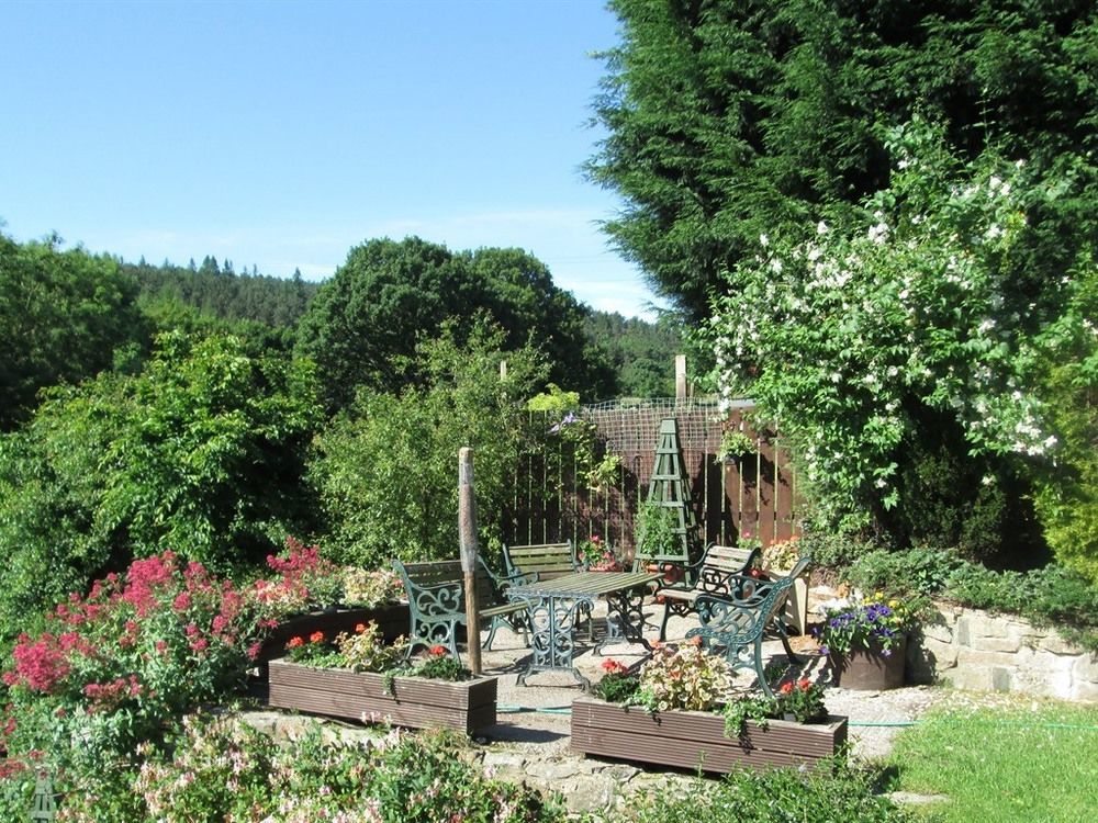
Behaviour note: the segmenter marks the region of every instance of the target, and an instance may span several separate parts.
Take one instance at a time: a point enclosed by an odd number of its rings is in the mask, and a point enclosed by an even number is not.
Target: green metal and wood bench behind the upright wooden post
[[[512,585],[529,583],[522,575],[498,576],[480,557],[477,559],[477,604],[482,620],[491,620],[491,631],[484,641],[484,649],[491,649],[500,625],[508,625],[527,635],[526,609],[524,600],[508,601],[506,590]],[[464,627],[469,642],[477,638],[480,627],[470,631],[466,619],[464,574],[461,561],[444,560],[425,563],[402,563],[393,561],[393,568],[404,584],[408,598],[408,649],[411,654],[417,646],[441,645],[458,657],[458,627]]]

